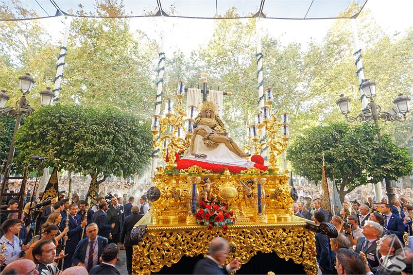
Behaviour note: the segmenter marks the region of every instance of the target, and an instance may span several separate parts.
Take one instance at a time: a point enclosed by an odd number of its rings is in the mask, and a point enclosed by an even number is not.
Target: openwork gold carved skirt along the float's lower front
[[[269,224],[268,224],[269,225]],[[150,274],[170,267],[182,256],[206,255],[212,238],[222,236],[236,244],[233,258],[241,264],[247,263],[257,252],[275,252],[285,260],[292,259],[302,264],[307,274],[317,274],[314,254],[314,233],[294,223],[228,226],[227,231],[219,228],[207,230],[202,226],[147,227],[139,245],[134,246],[133,272]],[[228,258],[229,262],[232,258]]]

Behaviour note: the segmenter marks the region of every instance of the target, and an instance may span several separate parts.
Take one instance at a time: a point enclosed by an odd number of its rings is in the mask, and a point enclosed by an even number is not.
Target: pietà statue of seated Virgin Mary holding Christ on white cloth
[[[249,155],[228,137],[224,123],[216,114],[214,103],[205,102],[195,119],[190,147],[184,158],[249,168],[254,163],[246,160],[247,156]]]

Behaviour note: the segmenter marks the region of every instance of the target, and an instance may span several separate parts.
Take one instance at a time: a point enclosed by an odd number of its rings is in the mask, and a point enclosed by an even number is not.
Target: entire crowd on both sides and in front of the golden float
[[[63,180],[59,188],[68,190],[67,185]],[[150,209],[144,195],[149,185],[128,188],[125,181],[108,181],[93,206],[85,200],[85,186],[81,180],[73,181],[71,200],[67,191],[61,191],[51,205],[40,209],[35,221],[30,194],[21,219],[17,213],[2,213],[1,274],[120,274],[115,267],[120,250],[125,250],[126,268],[132,274],[130,235]],[[8,188],[18,192],[18,182]],[[331,223],[338,232],[330,239],[315,235],[314,252],[322,274],[412,274],[411,189],[396,189],[396,199],[389,204],[386,199],[376,202],[368,186],[359,187],[346,195],[338,213],[322,208],[320,187],[303,185],[297,191],[294,215]],[[7,209],[19,207],[16,199],[6,199]],[[34,235],[38,238],[31,241]],[[229,255],[227,247],[224,239],[214,238],[208,257],[195,265],[194,274],[224,274],[239,268],[237,260],[219,268]]]

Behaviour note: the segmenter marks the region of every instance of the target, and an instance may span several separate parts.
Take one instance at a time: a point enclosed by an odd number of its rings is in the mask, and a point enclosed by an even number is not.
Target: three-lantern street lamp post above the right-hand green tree
[[[389,112],[381,111],[381,107],[376,104],[373,98],[376,96],[376,83],[369,81],[368,79],[363,82],[361,86],[366,98],[370,100],[370,103],[366,108],[361,110],[361,113],[356,117],[350,117],[350,99],[343,94],[340,95],[337,105],[340,107],[341,113],[345,116],[345,120],[348,122],[354,121],[371,121],[373,120],[377,126],[379,126],[379,120],[387,123],[388,121],[404,121],[406,120],[406,113],[409,112],[410,98],[399,94],[399,96],[393,101],[396,104],[397,111],[392,108]],[[380,133],[377,135],[381,139]],[[389,199],[389,203],[395,198],[395,193],[390,182],[386,180],[386,192]]]

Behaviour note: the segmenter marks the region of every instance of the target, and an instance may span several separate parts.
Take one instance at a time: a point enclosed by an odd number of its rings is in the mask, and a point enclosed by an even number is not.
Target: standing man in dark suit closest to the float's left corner
[[[132,274],[132,253],[133,245],[130,241],[131,231],[136,223],[143,217],[142,214],[139,214],[139,207],[132,206],[132,214],[125,218],[123,222],[122,231],[120,233],[120,245],[125,246],[126,252],[126,267],[128,269],[128,274]]]

